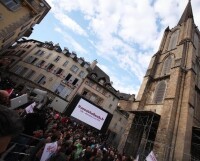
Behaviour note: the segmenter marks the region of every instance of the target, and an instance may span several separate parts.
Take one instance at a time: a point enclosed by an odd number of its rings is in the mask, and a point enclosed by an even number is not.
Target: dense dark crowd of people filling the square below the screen
[[[1,95],[4,96],[2,93]],[[6,101],[8,101],[7,95],[5,97]],[[1,101],[3,103],[6,102],[5,99],[1,99]],[[4,105],[7,104],[5,103]],[[47,105],[42,109],[34,108],[32,113],[27,113],[23,108],[10,110],[9,107],[3,107],[1,104],[0,156],[5,152],[11,137],[19,133],[39,140],[27,152],[26,161],[133,160],[131,157],[120,154],[115,148],[109,145],[108,134],[100,133],[78,120],[66,117]],[[7,138],[6,143],[5,138]],[[24,145],[29,144],[27,141],[21,143]],[[56,143],[56,150],[52,150],[51,154],[43,160],[45,147],[49,143]]]

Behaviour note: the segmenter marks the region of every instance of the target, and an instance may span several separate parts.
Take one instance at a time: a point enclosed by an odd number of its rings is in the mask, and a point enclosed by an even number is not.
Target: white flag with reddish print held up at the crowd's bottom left
[[[54,143],[46,144],[40,161],[47,161],[51,157],[51,155],[57,151],[57,148],[58,148],[57,141]]]

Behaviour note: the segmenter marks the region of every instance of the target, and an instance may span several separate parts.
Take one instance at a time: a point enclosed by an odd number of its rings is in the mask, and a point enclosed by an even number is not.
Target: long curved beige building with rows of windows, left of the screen
[[[22,40],[1,54],[9,59],[9,72],[16,86],[41,88],[49,95],[71,101],[87,76],[90,63],[59,44]]]

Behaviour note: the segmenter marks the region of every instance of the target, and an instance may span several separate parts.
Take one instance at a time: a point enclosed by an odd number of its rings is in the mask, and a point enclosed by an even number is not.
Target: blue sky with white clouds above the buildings
[[[52,7],[30,39],[59,43],[136,94],[165,28],[177,25],[188,0],[46,0]],[[196,25],[200,0],[192,0]]]

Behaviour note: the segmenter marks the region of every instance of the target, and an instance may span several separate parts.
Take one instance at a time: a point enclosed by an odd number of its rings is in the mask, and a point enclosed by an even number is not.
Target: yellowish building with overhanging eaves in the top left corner
[[[0,0],[0,51],[29,37],[50,9],[45,0]]]

